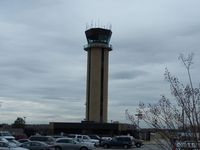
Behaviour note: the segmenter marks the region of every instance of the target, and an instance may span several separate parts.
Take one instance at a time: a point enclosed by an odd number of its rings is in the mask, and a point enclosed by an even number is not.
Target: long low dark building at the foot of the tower
[[[127,135],[132,134],[135,127],[130,124],[122,123],[95,123],[95,122],[50,122],[50,134],[97,134],[101,136],[109,135]]]

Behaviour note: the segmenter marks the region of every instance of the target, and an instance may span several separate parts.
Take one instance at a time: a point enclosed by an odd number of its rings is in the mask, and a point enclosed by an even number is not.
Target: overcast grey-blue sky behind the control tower
[[[86,24],[112,25],[108,121],[169,95],[170,72],[199,81],[199,0],[0,0],[0,123],[80,122],[85,117]]]

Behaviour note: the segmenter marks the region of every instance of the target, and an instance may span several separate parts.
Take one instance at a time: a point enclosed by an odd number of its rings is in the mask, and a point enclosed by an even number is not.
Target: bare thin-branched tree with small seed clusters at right
[[[188,84],[184,85],[176,76],[171,75],[168,69],[165,69],[164,77],[170,85],[170,90],[174,100],[169,100],[162,95],[157,103],[140,103],[139,110],[143,114],[143,120],[149,127],[154,129],[159,138],[155,138],[157,145],[163,150],[179,147],[187,148],[186,141],[192,141],[193,145],[200,149],[199,140],[199,101],[200,87],[194,88],[190,73],[193,64],[193,53],[184,57],[179,56],[184,64],[188,76]],[[126,110],[126,117],[137,126],[136,118]],[[179,142],[177,142],[179,141]]]

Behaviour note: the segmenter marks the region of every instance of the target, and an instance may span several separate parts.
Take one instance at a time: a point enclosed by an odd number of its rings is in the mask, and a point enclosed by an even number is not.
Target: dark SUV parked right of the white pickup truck
[[[127,149],[132,147],[132,139],[129,136],[116,136],[113,137],[112,140],[102,141],[101,146],[104,148],[123,147]]]

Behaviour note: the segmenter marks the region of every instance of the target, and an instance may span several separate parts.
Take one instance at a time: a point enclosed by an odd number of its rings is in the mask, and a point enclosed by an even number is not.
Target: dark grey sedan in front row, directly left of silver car
[[[24,142],[20,145],[20,147],[27,148],[29,150],[54,150],[54,146],[40,141]]]

